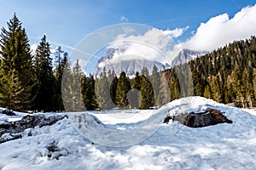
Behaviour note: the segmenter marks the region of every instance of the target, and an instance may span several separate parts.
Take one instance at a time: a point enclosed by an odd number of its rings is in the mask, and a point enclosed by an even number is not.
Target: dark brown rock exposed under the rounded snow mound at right
[[[216,125],[218,123],[232,123],[226,116],[220,111],[210,109],[201,113],[185,113],[177,116],[166,116],[165,121],[168,123],[170,120],[178,121],[188,127],[207,127],[210,125]]]

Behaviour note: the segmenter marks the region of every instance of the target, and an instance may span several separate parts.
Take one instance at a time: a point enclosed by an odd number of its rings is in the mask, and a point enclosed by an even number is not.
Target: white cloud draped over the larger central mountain
[[[118,48],[113,58],[120,56],[139,56],[149,60],[170,63],[180,49],[175,46],[172,37],[180,37],[189,27],[175,30],[158,30],[153,28],[144,34],[119,35],[108,48]]]

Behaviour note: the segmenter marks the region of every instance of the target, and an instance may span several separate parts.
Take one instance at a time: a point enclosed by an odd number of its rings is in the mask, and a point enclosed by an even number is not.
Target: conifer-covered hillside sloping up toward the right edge
[[[256,37],[251,37],[246,41],[232,42],[224,48],[218,48],[212,53],[189,61],[194,95],[204,96],[224,104],[236,102],[240,107],[253,107],[256,105],[255,56]],[[166,72],[168,75],[175,75],[176,69],[172,68]],[[179,83],[174,77],[169,80],[170,84]],[[172,99],[177,98],[179,95]]]

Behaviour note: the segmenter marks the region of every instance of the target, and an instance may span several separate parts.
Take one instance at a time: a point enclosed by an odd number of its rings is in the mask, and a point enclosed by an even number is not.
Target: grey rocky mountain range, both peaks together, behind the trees
[[[206,54],[207,52],[196,52],[189,49],[183,49],[175,59],[172,60],[171,64],[165,64],[158,61],[152,61],[138,56],[125,56],[114,58],[114,54],[124,53],[125,48],[108,48],[105,54],[98,60],[94,75],[100,75],[105,68],[106,71],[114,71],[116,75],[119,75],[122,71],[128,76],[133,76],[136,72],[141,72],[143,67],[146,67],[150,72],[153,70],[153,66],[156,65],[159,70],[171,68],[171,66],[181,65],[189,62],[191,59],[195,59],[198,56]]]

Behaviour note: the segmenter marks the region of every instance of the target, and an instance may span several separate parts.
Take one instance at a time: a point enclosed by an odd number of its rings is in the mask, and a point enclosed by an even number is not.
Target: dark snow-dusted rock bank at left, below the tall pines
[[[44,127],[52,125],[55,122],[63,119],[65,116],[24,116],[20,121],[8,122],[0,125],[0,144],[12,139],[19,139],[22,133],[27,128]],[[3,139],[1,138],[4,133],[10,133],[14,138]]]

